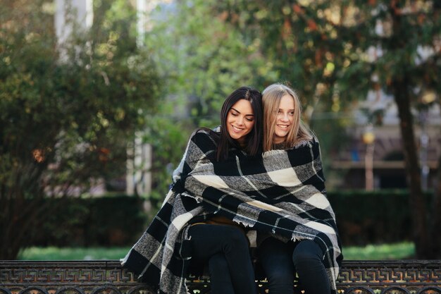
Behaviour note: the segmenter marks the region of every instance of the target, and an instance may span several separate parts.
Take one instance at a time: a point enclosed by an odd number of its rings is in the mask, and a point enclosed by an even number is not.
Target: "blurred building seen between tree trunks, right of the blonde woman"
[[[424,99],[428,100],[427,105],[414,110],[414,124],[421,185],[427,190],[434,188],[441,156],[441,112],[439,104],[430,105],[435,97]],[[366,101],[354,109],[354,119],[354,126],[347,130],[349,144],[332,156],[331,169],[342,176],[337,185],[366,190],[407,188],[402,136],[393,97],[383,90],[372,90]]]

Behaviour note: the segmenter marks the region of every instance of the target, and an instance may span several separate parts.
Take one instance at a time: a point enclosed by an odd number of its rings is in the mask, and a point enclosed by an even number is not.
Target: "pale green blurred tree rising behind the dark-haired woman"
[[[271,62],[255,40],[213,15],[211,1],[182,0],[157,6],[149,13],[152,27],[145,46],[153,54],[164,81],[160,111],[149,117],[145,142],[153,146],[153,191],[161,203],[171,181],[170,171],[182,158],[194,128],[220,124],[225,98],[241,85],[261,89],[275,80]]]

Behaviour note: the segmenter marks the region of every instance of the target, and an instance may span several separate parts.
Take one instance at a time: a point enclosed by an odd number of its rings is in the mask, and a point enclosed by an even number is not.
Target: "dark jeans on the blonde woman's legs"
[[[323,251],[312,240],[293,244],[268,238],[259,246],[258,255],[268,278],[269,294],[293,294],[296,271],[306,294],[330,294]]]

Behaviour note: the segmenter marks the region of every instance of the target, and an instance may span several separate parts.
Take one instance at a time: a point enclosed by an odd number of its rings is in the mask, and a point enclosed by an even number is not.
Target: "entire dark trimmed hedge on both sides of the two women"
[[[343,246],[411,240],[409,192],[332,191],[328,199]],[[154,214],[144,210],[143,199],[127,195],[51,202],[58,208],[39,229],[36,246],[131,246]]]

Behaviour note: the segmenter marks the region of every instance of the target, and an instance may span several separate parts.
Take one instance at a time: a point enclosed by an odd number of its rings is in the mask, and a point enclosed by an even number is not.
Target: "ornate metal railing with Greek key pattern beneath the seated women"
[[[192,294],[209,280],[192,277]],[[344,261],[337,281],[344,294],[441,294],[441,260]],[[266,281],[259,283],[264,294]],[[0,294],[154,294],[116,260],[0,261]]]

